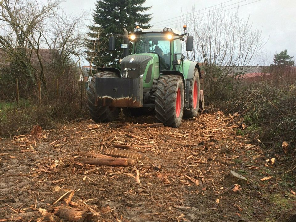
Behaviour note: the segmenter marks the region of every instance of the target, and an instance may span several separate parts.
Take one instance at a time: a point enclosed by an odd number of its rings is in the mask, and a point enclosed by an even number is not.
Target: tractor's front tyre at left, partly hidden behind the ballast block
[[[91,82],[89,82],[88,87],[89,90],[87,91],[88,95],[88,110],[89,115],[95,122],[110,122],[115,121],[119,113],[121,111],[120,107],[109,107],[109,106],[96,106],[96,77],[104,77],[104,78],[110,78],[110,77],[118,77],[115,72],[98,72],[94,74],[94,77],[92,78]]]

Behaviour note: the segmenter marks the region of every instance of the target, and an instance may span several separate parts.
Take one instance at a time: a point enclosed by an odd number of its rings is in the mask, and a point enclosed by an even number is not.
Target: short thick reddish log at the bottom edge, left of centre
[[[76,211],[65,207],[59,207],[55,210],[55,215],[68,221],[83,222],[86,219],[86,212]]]

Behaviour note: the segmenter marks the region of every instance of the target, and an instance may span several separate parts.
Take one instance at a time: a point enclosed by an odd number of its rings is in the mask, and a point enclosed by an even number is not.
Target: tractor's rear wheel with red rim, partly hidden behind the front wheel
[[[189,109],[184,109],[183,118],[193,118],[197,117],[199,113],[199,93],[200,93],[200,84],[199,84],[199,74],[197,68],[194,70],[193,78],[190,80],[189,86]],[[185,107],[184,107],[185,108]]]

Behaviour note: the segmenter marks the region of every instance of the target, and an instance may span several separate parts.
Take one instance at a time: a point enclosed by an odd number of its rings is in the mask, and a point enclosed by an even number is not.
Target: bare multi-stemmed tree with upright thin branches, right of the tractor
[[[224,7],[205,13],[193,8],[183,23],[195,39],[194,51],[188,56],[202,63],[206,71],[206,100],[212,101],[229,87],[234,94],[242,75],[261,58],[264,46],[261,29],[253,28],[249,20],[240,19],[238,10],[229,13]]]

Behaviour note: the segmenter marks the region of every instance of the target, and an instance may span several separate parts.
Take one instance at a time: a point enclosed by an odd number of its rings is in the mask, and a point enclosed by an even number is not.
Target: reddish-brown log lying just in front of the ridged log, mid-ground
[[[82,158],[81,162],[85,164],[92,164],[92,165],[106,165],[106,166],[114,166],[114,167],[120,167],[120,166],[130,166],[133,165],[135,162],[132,160],[129,160],[127,158],[114,158],[111,156],[106,156],[102,154],[91,154],[92,156],[95,156],[96,158]]]

